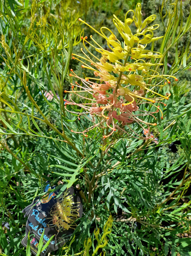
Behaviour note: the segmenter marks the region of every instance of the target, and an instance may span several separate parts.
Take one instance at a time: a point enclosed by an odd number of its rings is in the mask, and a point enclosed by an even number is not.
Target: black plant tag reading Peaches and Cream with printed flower
[[[70,239],[76,228],[75,221],[82,216],[83,205],[78,190],[73,187],[68,188],[57,197],[59,190],[49,192],[53,189],[48,184],[44,189],[47,192],[43,198],[35,198],[31,205],[27,206],[23,213],[28,217],[26,224],[26,235],[22,240],[23,246],[27,247],[28,233],[30,239],[30,250],[36,255],[40,237],[43,235],[43,246],[54,235],[47,248],[40,256],[46,255],[62,247]]]

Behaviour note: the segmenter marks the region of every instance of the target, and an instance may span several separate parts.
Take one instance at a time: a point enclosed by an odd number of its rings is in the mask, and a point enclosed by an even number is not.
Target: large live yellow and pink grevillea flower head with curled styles
[[[131,18],[129,18],[130,15]],[[74,77],[76,81],[71,84],[71,91],[65,91],[65,93],[71,93],[65,108],[72,112],[67,108],[67,105],[76,105],[85,109],[85,113],[89,113],[92,117],[96,115],[101,120],[96,123],[92,118],[94,125],[83,131],[83,135],[88,136],[86,134],[88,131],[100,126],[108,128],[104,135],[106,138],[116,130],[126,132],[124,126],[127,126],[136,136],[145,139],[142,135],[137,134],[130,124],[138,123],[145,131],[149,129],[150,125],[157,125],[156,113],[159,112],[161,119],[163,119],[161,104],[166,106],[163,100],[168,100],[170,93],[167,92],[166,95],[162,95],[158,93],[158,88],[166,84],[165,80],[170,83],[169,77],[174,78],[175,81],[177,78],[160,75],[157,70],[162,65],[158,61],[162,58],[162,54],[148,50],[147,45],[149,43],[162,38],[162,36],[154,37],[153,31],[159,25],[150,25],[150,23],[155,18],[156,15],[151,15],[142,22],[139,3],[135,12],[129,10],[126,13],[124,22],[114,15],[113,22],[122,40],[119,40],[107,27],[101,27],[99,32],[79,19],[107,42],[107,49],[105,49],[94,40],[92,35],[90,42],[87,40],[87,36],[82,37],[85,49],[81,48],[83,56],[72,54],[72,59],[80,61],[82,68],[90,69],[94,73],[94,77],[81,78],[71,69],[70,76]],[[134,35],[130,29],[133,22],[137,27]],[[100,53],[101,57],[98,58],[94,55],[90,48]],[[157,79],[160,80],[155,85]],[[81,84],[77,80],[81,80]],[[72,100],[72,94],[81,98],[82,103],[76,103]],[[79,116],[82,114],[81,111],[73,113],[79,114]],[[147,116],[151,116],[153,122],[146,121]],[[80,133],[78,131],[73,132]]]

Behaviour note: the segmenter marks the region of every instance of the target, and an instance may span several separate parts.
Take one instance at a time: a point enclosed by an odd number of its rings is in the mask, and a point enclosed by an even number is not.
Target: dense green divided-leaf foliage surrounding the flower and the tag
[[[47,180],[51,185],[62,180],[64,185],[57,186],[61,193],[80,184],[85,195],[83,215],[70,241],[54,255],[189,256],[191,12],[187,2],[165,0],[154,5],[158,23],[161,19],[157,36],[164,35],[152,45],[163,54],[163,68],[156,67],[163,75],[178,77],[177,84],[157,88],[162,95],[171,91],[167,106],[160,107],[164,118],[158,114],[158,125],[151,130],[158,144],[122,132],[103,139],[100,126],[88,137],[71,132],[92,125],[91,116],[81,115],[78,120],[63,101],[70,99],[64,93],[71,88],[68,69],[83,76],[79,64],[70,61],[72,51],[82,47],[77,19],[86,19],[97,30],[102,23],[113,29],[111,15],[124,20],[129,8],[123,1],[79,2],[77,8],[71,1],[0,2],[0,255],[26,255],[21,244],[26,223],[22,210],[37,195],[44,195]],[[137,1],[130,4],[134,9]],[[93,33],[83,29],[85,35]],[[142,134],[136,123],[131,127]]]

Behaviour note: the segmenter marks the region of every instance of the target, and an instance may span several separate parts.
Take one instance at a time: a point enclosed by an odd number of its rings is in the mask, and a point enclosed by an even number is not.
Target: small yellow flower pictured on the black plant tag
[[[65,191],[53,205],[50,212],[51,220],[48,223],[49,227],[55,226],[56,230],[75,229],[74,221],[79,217],[79,213],[75,202],[72,200],[72,195]]]

